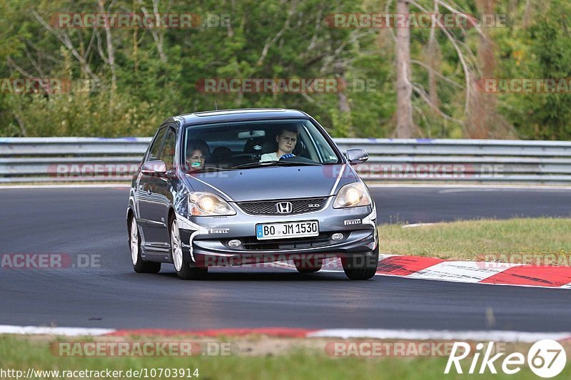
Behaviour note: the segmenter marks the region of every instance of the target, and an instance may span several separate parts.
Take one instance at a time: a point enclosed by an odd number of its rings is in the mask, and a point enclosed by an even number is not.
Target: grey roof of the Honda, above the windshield
[[[174,116],[173,118],[180,121],[183,125],[191,125],[224,121],[309,118],[309,115],[303,111],[286,108],[238,108],[186,113]]]

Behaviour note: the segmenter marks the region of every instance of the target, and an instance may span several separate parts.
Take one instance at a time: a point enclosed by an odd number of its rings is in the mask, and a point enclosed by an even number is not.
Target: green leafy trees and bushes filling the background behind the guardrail
[[[510,13],[505,28],[487,31],[496,48],[498,78],[570,77],[570,26],[566,1],[541,5],[496,2]],[[501,3],[501,4],[500,4]],[[95,81],[88,93],[14,94],[0,91],[0,135],[150,135],[176,113],[215,108],[285,107],[314,115],[330,133],[350,137],[390,137],[395,129],[395,46],[390,29],[332,28],[331,14],[395,11],[395,1],[369,0],[201,0],[158,1],[158,11],[196,14],[202,21],[228,15],[228,26],[194,29],[111,29],[115,65],[108,61],[104,29],[49,30],[54,14],[99,13],[92,0],[5,0],[0,4],[0,78],[64,78]],[[433,1],[418,0],[432,11]],[[455,1],[478,16],[473,0]],[[153,11],[151,0],[104,1],[111,14]],[[531,11],[535,14],[530,16]],[[411,12],[418,12],[411,5]],[[448,12],[440,7],[441,12]],[[216,15],[216,16],[212,16]],[[287,21],[287,22],[286,22]],[[480,36],[473,29],[450,29],[467,56],[476,56]],[[411,31],[413,83],[428,93],[430,29]],[[465,120],[465,74],[456,48],[436,31],[438,107]],[[62,41],[68,41],[64,43]],[[162,51],[162,54],[161,54]],[[83,64],[77,55],[84,56]],[[477,67],[473,68],[477,71]],[[113,72],[115,76],[113,78]],[[204,78],[335,78],[347,83],[338,93],[205,93]],[[113,83],[116,84],[113,87]],[[367,87],[359,88],[362,83]],[[456,83],[456,86],[454,85]],[[413,93],[418,135],[463,138],[462,123],[442,115]],[[341,103],[350,111],[340,111]],[[505,94],[497,112],[522,138],[570,138],[571,95]]]

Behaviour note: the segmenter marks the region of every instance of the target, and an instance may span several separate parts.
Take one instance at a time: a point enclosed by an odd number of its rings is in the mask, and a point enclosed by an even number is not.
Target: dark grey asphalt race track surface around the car
[[[571,190],[374,188],[380,222],[571,217]],[[0,190],[0,254],[63,253],[92,267],[0,268],[0,324],[208,329],[223,327],[495,329],[571,332],[571,293],[287,269],[211,269],[182,281],[131,269],[126,188]],[[490,318],[490,315],[492,316]]]

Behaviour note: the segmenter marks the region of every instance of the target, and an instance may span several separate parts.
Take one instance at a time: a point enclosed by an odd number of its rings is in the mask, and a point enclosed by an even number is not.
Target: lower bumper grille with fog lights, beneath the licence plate
[[[290,239],[275,239],[275,240],[258,240],[256,237],[243,237],[242,245],[238,248],[232,248],[233,250],[245,250],[245,251],[276,251],[276,250],[299,250],[303,248],[312,247],[323,247],[325,245],[331,245],[334,242],[330,239],[330,234],[320,233],[318,236],[314,237],[295,237]],[[347,235],[343,236],[345,240]],[[222,241],[222,243],[228,246],[228,242]]]

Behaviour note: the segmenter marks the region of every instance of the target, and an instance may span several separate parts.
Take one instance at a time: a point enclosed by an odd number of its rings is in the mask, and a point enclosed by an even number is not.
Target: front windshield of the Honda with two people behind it
[[[189,125],[183,152],[191,172],[340,163],[335,150],[310,120]]]

